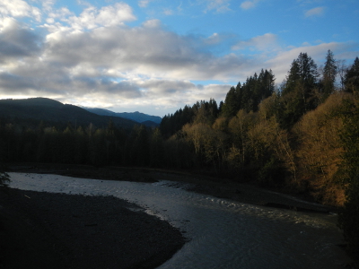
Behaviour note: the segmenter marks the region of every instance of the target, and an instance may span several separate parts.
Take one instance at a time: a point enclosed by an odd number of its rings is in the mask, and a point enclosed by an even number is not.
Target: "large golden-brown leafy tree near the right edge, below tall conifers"
[[[305,114],[293,127],[298,141],[296,159],[299,180],[325,204],[342,205],[345,202],[344,189],[336,179],[343,154],[339,137],[343,122],[337,109],[342,105],[343,98],[342,93],[330,95],[328,100]]]

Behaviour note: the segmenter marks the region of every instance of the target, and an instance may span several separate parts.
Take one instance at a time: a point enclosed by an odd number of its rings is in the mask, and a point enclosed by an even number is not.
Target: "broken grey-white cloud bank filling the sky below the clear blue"
[[[230,9],[228,0],[203,1],[205,12]],[[243,2],[241,8],[253,8],[258,2]],[[151,1],[137,4],[145,8]],[[322,12],[313,9],[306,16]],[[357,46],[332,42],[284,48],[270,32],[251,39],[218,33],[208,38],[180,35],[157,19],[128,26],[137,20],[133,8],[121,2],[102,7],[87,4],[76,14],[56,7],[51,0],[43,1],[41,8],[22,0],[2,1],[2,98],[44,96],[83,106],[164,116],[197,100],[223,100],[232,84],[245,81],[261,68],[272,68],[280,82],[302,51],[324,58],[329,48],[340,56]],[[231,44],[228,52],[215,54],[214,48],[223,46],[224,41]],[[253,53],[243,54],[245,50]]]

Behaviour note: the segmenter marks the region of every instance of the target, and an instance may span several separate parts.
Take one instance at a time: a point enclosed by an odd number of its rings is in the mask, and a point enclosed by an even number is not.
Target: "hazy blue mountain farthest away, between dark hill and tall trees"
[[[145,126],[158,126],[159,124],[161,124],[161,121],[162,121],[162,117],[151,116],[151,115],[147,115],[144,113],[140,113],[138,111],[116,113],[116,112],[110,111],[108,109],[103,109],[103,108],[85,108],[85,109],[87,111],[90,111],[97,115],[111,116],[111,117],[124,117],[127,119],[134,120],[134,121],[141,123]]]

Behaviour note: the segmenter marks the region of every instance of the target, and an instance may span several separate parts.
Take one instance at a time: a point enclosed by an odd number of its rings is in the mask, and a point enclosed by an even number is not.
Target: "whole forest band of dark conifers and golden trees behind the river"
[[[276,83],[261,70],[219,104],[198,100],[130,129],[0,118],[2,162],[186,169],[312,195],[341,208],[339,227],[359,256],[359,58],[318,67],[307,53]]]

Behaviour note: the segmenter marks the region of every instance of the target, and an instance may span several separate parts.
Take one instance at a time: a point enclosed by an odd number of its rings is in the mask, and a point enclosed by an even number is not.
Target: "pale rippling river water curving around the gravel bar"
[[[186,191],[172,181],[136,183],[9,173],[10,187],[66,194],[114,195],[169,221],[188,243],[159,268],[344,268],[333,214],[241,204]]]

